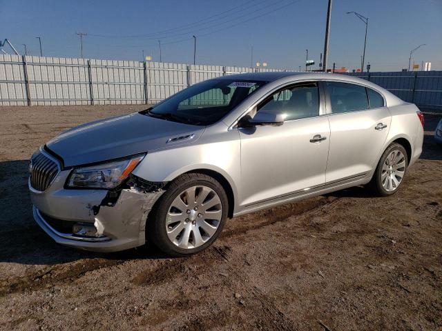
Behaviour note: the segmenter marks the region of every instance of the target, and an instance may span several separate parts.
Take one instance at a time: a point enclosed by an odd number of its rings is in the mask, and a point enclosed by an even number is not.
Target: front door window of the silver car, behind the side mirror
[[[319,92],[317,83],[290,86],[268,97],[257,111],[286,114],[286,121],[319,115]]]

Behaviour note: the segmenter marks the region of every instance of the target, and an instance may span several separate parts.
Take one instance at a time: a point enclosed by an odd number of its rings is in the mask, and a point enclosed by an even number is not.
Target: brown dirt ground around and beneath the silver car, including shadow
[[[1,330],[442,330],[442,114],[392,197],[352,188],[231,219],[186,259],[57,245],[32,220],[30,155],[140,108],[0,108]]]

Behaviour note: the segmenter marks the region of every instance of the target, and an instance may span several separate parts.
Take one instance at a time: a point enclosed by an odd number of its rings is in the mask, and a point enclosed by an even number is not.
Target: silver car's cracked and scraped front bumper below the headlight
[[[57,243],[95,252],[117,252],[145,243],[146,219],[163,190],[133,185],[108,199],[107,190],[64,188],[70,170],[39,192],[29,183],[35,221]]]

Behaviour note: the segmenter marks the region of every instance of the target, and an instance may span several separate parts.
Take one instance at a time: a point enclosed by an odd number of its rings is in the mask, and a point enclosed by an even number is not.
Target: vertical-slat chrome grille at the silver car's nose
[[[35,152],[30,158],[29,178],[32,188],[38,191],[46,190],[59,172],[55,161],[41,152]]]

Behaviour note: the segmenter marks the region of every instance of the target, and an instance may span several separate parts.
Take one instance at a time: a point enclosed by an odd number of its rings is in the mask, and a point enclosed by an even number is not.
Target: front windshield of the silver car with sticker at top
[[[207,126],[228,114],[266,81],[211,79],[195,84],[140,112],[169,121]]]

